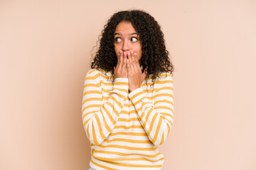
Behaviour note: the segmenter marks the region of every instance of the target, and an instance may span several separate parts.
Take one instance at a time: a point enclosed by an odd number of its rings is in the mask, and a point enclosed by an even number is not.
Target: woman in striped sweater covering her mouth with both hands
[[[119,11],[105,25],[87,72],[82,122],[90,169],[161,169],[174,120],[174,67],[159,24],[144,11]]]

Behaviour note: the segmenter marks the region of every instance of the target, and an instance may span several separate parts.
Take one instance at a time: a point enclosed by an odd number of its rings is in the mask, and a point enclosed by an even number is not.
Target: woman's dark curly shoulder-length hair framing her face
[[[174,65],[169,60],[169,52],[166,50],[164,33],[159,24],[149,13],[140,10],[119,11],[107,21],[102,30],[100,47],[92,61],[92,69],[103,69],[114,73],[117,65],[117,55],[114,52],[114,31],[122,22],[132,23],[142,43],[142,58],[140,60],[143,70],[147,68],[146,79],[151,75],[152,81],[159,77],[161,72],[169,72],[172,75]]]

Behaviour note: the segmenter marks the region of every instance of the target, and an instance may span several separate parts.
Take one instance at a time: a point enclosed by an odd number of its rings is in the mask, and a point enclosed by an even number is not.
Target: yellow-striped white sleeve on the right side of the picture
[[[153,101],[146,98],[142,88],[128,96],[135,106],[149,140],[158,146],[166,141],[174,121],[174,83],[171,74],[155,82]]]

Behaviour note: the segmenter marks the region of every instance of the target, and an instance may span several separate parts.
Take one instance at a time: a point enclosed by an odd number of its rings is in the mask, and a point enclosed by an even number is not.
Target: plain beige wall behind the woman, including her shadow
[[[112,13],[131,8],[156,18],[175,65],[164,170],[256,169],[255,0],[1,0],[0,169],[87,170],[90,53]]]

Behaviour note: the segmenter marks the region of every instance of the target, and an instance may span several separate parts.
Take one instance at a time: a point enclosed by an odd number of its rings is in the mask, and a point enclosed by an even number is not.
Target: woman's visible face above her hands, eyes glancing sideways
[[[138,60],[142,58],[142,44],[132,23],[121,22],[114,31],[114,51],[116,55],[123,52],[136,52]]]

